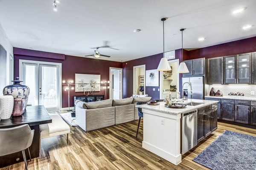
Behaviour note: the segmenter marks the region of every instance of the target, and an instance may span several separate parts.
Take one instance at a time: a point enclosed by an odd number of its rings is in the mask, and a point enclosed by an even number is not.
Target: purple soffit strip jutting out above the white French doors
[[[35,51],[35,50],[28,50],[23,48],[13,48],[13,54],[23,55],[23,56],[32,56],[32,57],[43,57],[49,59],[65,59],[65,54],[57,54],[57,53],[50,53],[44,51]]]

